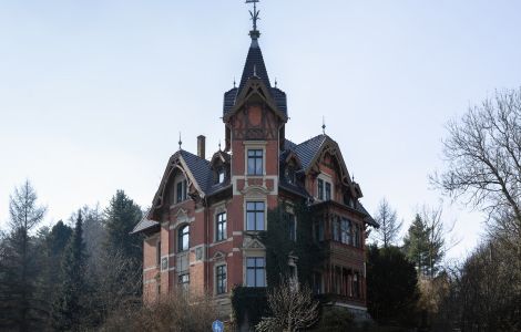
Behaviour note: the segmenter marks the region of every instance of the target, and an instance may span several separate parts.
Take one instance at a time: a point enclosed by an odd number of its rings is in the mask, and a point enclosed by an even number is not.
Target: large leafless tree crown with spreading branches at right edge
[[[453,198],[489,212],[521,238],[521,89],[497,92],[448,124],[448,169],[431,180]],[[509,218],[504,218],[508,215]]]

